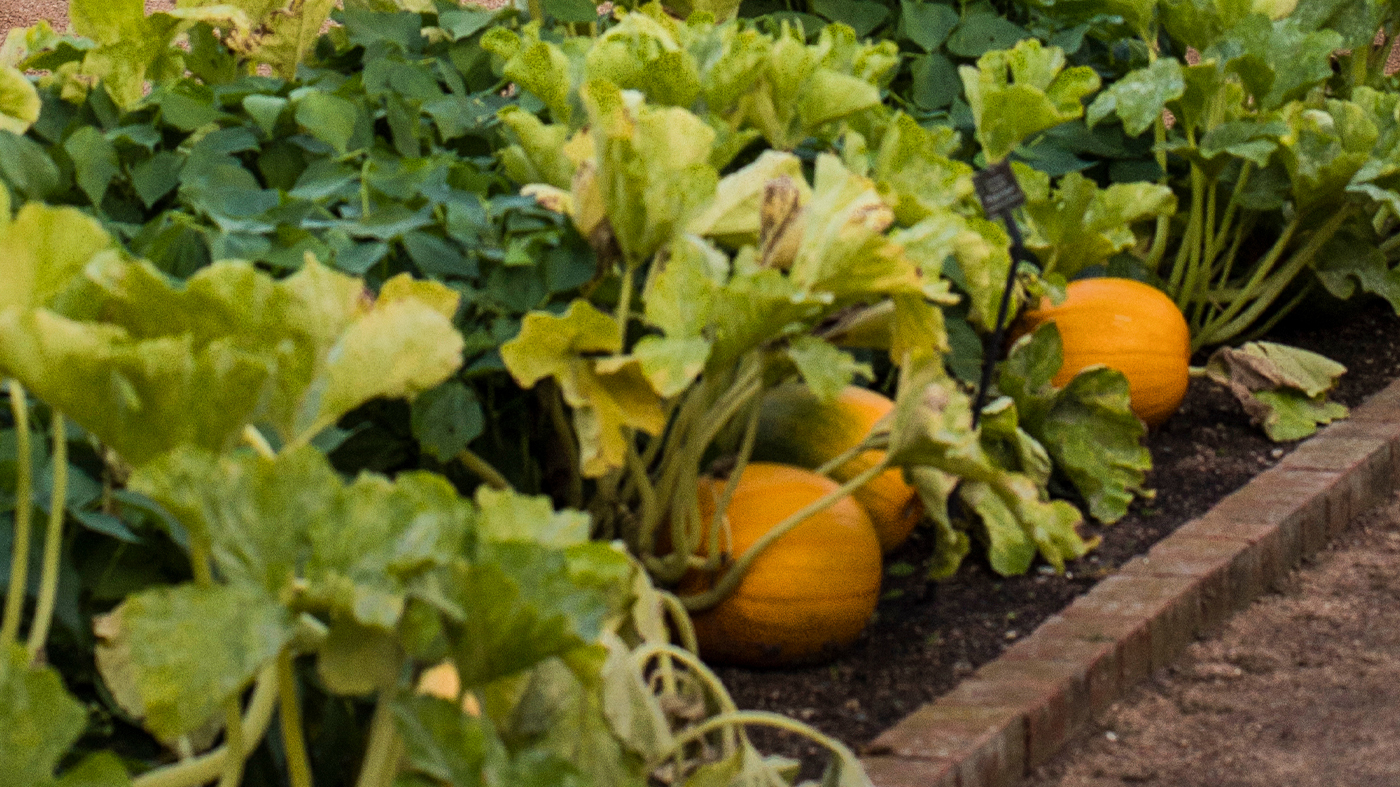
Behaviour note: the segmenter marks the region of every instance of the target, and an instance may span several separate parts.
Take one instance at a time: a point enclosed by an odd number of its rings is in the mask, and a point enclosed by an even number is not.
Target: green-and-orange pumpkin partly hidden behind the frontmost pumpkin
[[[819,401],[801,384],[780,385],[763,398],[753,458],[816,469],[858,445],[893,409],[889,398],[858,385],[833,402]],[[883,459],[883,451],[864,451],[830,475],[847,482]],[[865,482],[853,497],[875,524],[882,552],[904,543],[924,515],[917,490],[904,483],[899,468]]]

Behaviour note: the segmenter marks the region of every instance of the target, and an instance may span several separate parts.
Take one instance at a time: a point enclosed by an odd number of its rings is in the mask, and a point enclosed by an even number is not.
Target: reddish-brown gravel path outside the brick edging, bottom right
[[[1372,511],[1023,787],[1400,784],[1400,503]]]

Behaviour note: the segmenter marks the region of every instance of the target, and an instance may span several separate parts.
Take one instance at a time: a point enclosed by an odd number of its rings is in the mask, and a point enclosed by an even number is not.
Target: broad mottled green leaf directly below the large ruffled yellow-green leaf
[[[466,552],[475,521],[441,476],[346,485],[311,447],[276,459],[178,450],[130,483],[204,539],[228,581],[381,629],[398,623],[409,581]]]

